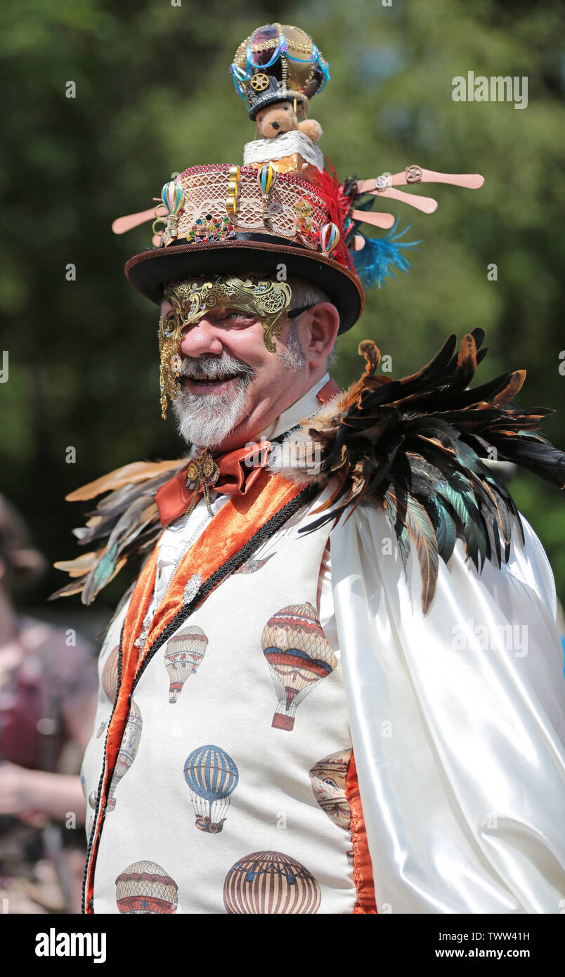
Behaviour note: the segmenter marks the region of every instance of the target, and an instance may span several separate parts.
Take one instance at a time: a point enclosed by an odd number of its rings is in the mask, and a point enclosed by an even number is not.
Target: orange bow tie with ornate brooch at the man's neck
[[[267,464],[270,450],[270,442],[260,441],[218,458],[205,449],[197,451],[195,458],[155,492],[161,526],[175,522],[189,508],[192,511],[202,494],[207,501],[208,488],[224,495],[244,495]]]

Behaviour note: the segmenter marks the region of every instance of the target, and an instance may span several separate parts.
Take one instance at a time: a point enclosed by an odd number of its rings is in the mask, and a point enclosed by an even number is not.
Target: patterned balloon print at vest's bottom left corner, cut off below
[[[155,862],[134,862],[115,880],[115,901],[120,913],[155,915],[176,913],[178,885]]]

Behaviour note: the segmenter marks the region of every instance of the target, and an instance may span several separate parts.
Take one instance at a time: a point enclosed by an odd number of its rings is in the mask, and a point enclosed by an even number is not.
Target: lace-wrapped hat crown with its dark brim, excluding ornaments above
[[[278,174],[270,163],[259,170],[212,164],[190,167],[173,186],[179,206],[162,218],[159,246],[125,267],[134,288],[153,302],[161,301],[167,280],[247,271],[277,277],[283,264],[285,276],[326,292],[339,310],[340,331],[359,318],[363,286],[337,223],[338,186],[326,174],[316,186]]]

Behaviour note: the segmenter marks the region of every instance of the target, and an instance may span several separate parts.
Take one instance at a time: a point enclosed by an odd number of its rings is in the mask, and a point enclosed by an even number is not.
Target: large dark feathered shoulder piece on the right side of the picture
[[[307,457],[304,442],[320,448],[316,481],[336,483],[323,515],[311,529],[361,502],[382,506],[395,532],[406,570],[411,544],[417,553],[424,613],[432,601],[441,557],[450,559],[462,539],[478,571],[485,560],[507,562],[512,531],[524,533],[517,509],[495,474],[492,460],[522,465],[563,488],[565,454],[539,433],[551,410],[510,402],[526,373],[504,373],[468,390],[482,329],[463,337],[456,352],[452,335],[434,359],[402,380],[375,374],[380,354],[366,340],[359,347],[367,367],[362,378],[337,395],[285,443],[282,457]],[[294,444],[292,444],[294,443]],[[302,448],[302,450],[300,450]],[[312,471],[312,469],[310,469]],[[310,477],[311,479],[311,477]]]

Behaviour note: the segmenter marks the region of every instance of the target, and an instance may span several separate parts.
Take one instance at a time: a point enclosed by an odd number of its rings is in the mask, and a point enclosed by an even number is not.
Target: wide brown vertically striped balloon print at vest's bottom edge
[[[224,882],[228,913],[318,913],[322,894],[311,871],[282,852],[253,852],[236,862]]]

